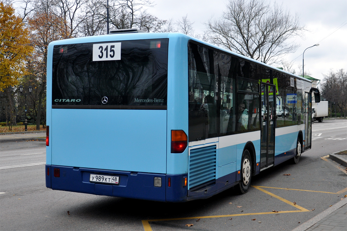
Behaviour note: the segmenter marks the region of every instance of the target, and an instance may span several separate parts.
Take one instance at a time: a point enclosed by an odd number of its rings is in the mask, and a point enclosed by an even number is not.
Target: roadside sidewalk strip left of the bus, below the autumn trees
[[[46,137],[46,131],[4,132],[4,133],[0,133],[0,143],[20,142],[20,141],[27,141],[27,140],[45,141],[46,140],[45,137]]]

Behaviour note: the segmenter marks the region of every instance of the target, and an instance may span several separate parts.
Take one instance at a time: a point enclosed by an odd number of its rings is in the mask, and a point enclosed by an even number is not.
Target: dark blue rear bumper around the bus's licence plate
[[[54,177],[54,168],[60,169],[60,177]],[[45,172],[46,187],[53,190],[163,202],[187,200],[187,186],[182,185],[182,180],[187,177],[187,174],[169,175],[56,165],[46,165]],[[91,183],[89,181],[91,173],[119,176],[119,185]],[[161,178],[161,187],[154,187],[154,177]],[[171,180],[171,187],[168,187],[168,178]]]

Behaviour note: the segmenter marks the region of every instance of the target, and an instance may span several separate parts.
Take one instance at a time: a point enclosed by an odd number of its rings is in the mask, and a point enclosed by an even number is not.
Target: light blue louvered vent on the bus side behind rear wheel
[[[191,190],[209,187],[215,183],[216,145],[191,150],[188,176]]]

